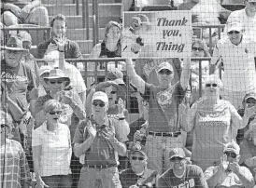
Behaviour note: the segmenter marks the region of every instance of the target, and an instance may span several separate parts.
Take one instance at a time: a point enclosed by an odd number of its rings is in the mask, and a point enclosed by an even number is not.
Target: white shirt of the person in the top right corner
[[[243,23],[245,27],[245,34],[256,40],[256,15],[254,17],[247,16],[245,8],[232,12],[229,15],[227,22]]]

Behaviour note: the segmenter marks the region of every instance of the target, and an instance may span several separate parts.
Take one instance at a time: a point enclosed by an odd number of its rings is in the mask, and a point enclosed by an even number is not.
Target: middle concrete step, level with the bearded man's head
[[[49,17],[52,19],[52,16]],[[92,16],[90,16],[90,27],[92,28]],[[120,17],[99,17],[99,28],[105,28],[110,20],[119,21]],[[82,16],[66,16],[67,28],[82,28]]]

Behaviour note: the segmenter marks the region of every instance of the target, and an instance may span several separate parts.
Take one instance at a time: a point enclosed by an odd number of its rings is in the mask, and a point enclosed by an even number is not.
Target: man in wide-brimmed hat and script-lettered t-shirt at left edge
[[[7,41],[7,46],[1,48],[5,49],[5,59],[1,60],[1,81],[9,98],[21,109],[20,119],[14,118],[14,124],[20,130],[17,139],[21,141],[21,145],[26,150],[26,126],[31,119],[29,112],[30,91],[36,86],[36,80],[32,70],[25,62],[21,61],[23,53],[27,51],[22,47],[21,37],[11,36]]]

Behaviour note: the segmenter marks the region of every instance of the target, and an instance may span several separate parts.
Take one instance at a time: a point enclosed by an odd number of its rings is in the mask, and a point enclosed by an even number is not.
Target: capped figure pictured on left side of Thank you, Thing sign
[[[151,22],[146,14],[137,14],[122,31],[121,56],[137,58],[141,47],[148,44]]]

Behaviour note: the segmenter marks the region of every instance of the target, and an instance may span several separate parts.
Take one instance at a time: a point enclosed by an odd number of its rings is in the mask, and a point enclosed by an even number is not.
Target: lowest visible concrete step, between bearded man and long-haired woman
[[[67,29],[66,31],[67,38],[70,40],[88,40],[92,39],[92,28],[90,28],[89,38],[86,38],[86,29]],[[99,39],[103,40],[105,35],[105,28],[99,28]]]

